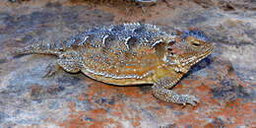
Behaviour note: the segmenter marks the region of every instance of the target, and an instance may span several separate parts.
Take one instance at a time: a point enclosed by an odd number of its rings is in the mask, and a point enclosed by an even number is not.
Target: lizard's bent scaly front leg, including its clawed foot
[[[195,96],[177,95],[176,93],[168,90],[171,87],[175,86],[179,80],[180,78],[177,79],[171,76],[160,78],[160,80],[158,80],[152,87],[153,95],[160,100],[181,103],[183,105],[185,105],[186,103],[195,105],[196,102],[199,102],[199,99]]]

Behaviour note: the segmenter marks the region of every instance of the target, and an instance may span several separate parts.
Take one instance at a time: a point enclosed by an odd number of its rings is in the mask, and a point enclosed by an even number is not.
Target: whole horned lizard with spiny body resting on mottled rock
[[[153,95],[160,100],[195,105],[196,96],[177,95],[169,89],[212,53],[213,45],[200,36],[196,31],[161,32],[150,24],[117,24],[90,29],[64,42],[34,43],[16,55],[55,55],[56,64],[67,72],[81,71],[118,86],[153,84]]]

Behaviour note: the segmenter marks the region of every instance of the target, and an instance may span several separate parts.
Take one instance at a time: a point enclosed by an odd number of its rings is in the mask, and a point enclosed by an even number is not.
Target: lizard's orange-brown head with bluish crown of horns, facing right
[[[186,73],[191,66],[213,52],[213,45],[194,36],[176,37],[165,46],[163,61],[176,72]]]

